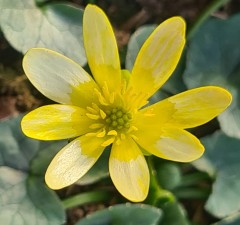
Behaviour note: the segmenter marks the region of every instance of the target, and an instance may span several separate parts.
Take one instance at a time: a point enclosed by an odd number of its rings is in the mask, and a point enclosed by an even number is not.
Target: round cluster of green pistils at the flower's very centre
[[[124,111],[121,108],[113,108],[111,110],[106,110],[106,124],[108,125],[108,129],[128,129],[130,128],[130,120],[132,116],[130,113]]]

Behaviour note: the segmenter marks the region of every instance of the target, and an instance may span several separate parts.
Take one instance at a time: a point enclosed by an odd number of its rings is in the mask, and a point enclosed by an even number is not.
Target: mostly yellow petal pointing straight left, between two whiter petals
[[[25,115],[21,126],[31,138],[60,140],[87,133],[91,123],[84,109],[69,105],[46,105]]]

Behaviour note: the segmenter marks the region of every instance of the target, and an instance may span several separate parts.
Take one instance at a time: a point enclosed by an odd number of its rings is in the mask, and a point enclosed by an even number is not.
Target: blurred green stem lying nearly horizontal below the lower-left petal
[[[110,195],[107,191],[91,191],[74,195],[62,201],[65,209],[74,208],[88,203],[109,200]]]

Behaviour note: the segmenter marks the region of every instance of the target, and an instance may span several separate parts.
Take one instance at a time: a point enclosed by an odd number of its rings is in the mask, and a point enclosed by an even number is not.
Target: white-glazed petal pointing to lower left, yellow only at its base
[[[61,189],[79,180],[102,154],[102,139],[82,136],[60,150],[50,163],[45,181],[52,189]]]

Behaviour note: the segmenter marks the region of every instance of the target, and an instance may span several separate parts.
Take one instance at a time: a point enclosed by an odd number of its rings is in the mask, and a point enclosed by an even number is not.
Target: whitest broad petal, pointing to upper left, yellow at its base
[[[57,52],[30,49],[23,59],[23,69],[32,84],[53,101],[85,107],[95,97],[93,89],[97,85],[91,76],[80,65]]]

